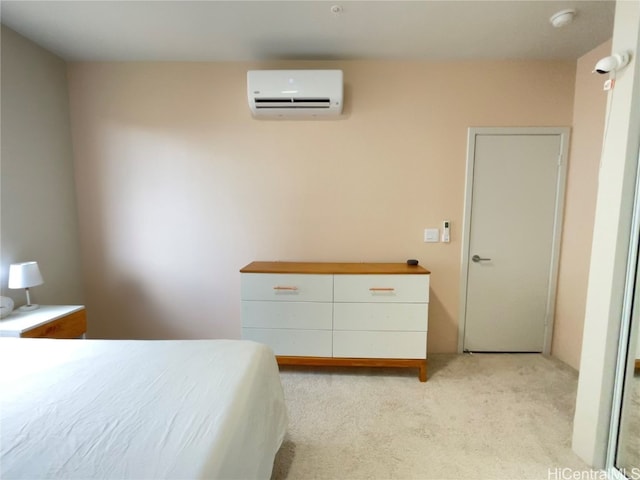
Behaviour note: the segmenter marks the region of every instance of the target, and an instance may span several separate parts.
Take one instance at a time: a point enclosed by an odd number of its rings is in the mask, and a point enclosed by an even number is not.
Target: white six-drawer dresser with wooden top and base
[[[280,365],[418,368],[427,379],[430,272],[404,263],[253,262],[242,337]]]

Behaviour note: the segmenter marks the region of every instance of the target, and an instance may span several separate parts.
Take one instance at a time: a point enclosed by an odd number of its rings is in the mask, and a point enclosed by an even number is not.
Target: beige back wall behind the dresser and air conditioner
[[[336,121],[257,121],[250,68],[342,68]],[[574,62],[72,64],[90,336],[240,335],[252,260],[432,271],[431,352],[458,340],[470,126],[569,126]],[[450,244],[423,229],[452,222]]]

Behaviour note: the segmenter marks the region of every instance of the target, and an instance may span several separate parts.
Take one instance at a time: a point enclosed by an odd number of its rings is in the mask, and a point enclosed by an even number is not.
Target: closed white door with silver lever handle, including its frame
[[[568,131],[469,133],[462,349],[548,353]]]

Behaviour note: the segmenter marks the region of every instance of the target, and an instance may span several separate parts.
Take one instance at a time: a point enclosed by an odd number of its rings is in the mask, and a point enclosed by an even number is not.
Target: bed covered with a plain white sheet
[[[0,339],[0,478],[268,479],[287,416],[266,346]]]

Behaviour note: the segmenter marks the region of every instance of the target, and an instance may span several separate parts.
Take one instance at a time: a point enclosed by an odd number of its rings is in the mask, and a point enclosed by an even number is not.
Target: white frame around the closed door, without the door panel
[[[568,127],[470,127],[467,133],[467,171],[464,192],[464,214],[462,223],[462,253],[460,261],[460,308],[458,316],[458,353],[464,351],[464,335],[467,317],[467,280],[469,273],[469,244],[471,240],[471,206],[473,204],[473,171],[475,167],[476,138],[479,135],[559,135],[560,152],[558,154],[558,179],[556,182],[556,204],[553,221],[553,245],[551,247],[551,271],[547,291],[547,311],[544,329],[542,353],[551,353],[553,324],[558,284],[560,260],[560,240],[564,216],[564,195],[567,179],[567,160],[569,155]]]

